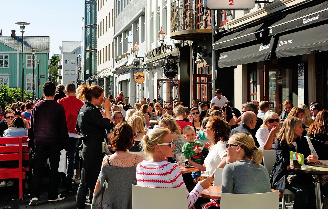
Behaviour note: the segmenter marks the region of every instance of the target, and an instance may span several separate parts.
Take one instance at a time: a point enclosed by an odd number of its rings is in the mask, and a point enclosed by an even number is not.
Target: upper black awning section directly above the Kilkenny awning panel
[[[214,44],[212,49],[223,49],[238,44],[245,44],[247,42],[264,39],[268,36],[268,26],[272,25],[272,21],[266,21],[256,26],[252,26],[237,32],[229,32],[226,36],[220,38]]]

